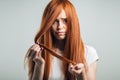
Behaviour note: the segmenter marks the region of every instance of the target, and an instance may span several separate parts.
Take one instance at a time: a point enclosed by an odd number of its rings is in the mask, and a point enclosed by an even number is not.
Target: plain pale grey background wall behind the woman
[[[27,80],[24,55],[50,0],[0,0],[0,80]],[[70,0],[85,44],[99,55],[97,80],[120,80],[120,1]]]

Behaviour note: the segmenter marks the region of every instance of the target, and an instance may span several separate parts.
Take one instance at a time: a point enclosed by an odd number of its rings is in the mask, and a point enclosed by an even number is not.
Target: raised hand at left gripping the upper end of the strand
[[[38,44],[33,44],[30,48],[28,57],[32,59],[35,63],[45,63],[45,60],[41,56],[42,51],[43,47],[40,47]]]

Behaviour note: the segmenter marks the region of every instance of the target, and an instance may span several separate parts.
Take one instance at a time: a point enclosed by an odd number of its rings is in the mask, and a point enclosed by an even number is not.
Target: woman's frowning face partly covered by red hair
[[[67,32],[67,18],[65,11],[62,10],[52,25],[53,36],[58,40],[63,40]]]

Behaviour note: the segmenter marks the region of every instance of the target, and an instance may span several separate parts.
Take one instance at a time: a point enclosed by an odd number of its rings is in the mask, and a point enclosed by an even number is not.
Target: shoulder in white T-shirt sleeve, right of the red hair
[[[85,58],[88,66],[99,59],[98,53],[93,46],[85,45]]]

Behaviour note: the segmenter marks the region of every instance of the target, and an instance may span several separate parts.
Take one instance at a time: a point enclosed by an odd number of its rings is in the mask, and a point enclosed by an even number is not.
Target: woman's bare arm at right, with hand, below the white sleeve
[[[75,67],[78,67],[79,69],[75,69]],[[69,72],[71,74],[75,73],[77,74],[77,80],[81,80],[81,76],[79,75],[82,73],[83,80],[96,80],[96,69],[97,69],[97,61],[92,63],[90,66],[88,66],[88,70],[85,71],[85,68],[82,63],[79,63],[77,65],[71,65],[69,66]]]

